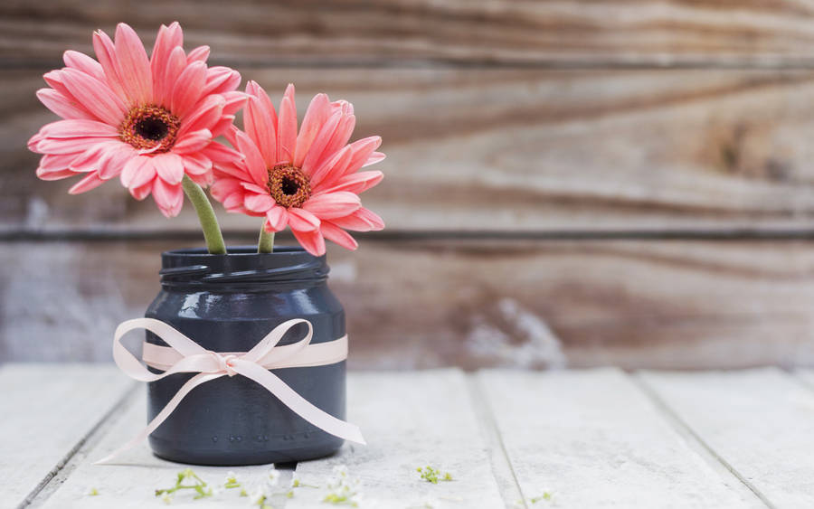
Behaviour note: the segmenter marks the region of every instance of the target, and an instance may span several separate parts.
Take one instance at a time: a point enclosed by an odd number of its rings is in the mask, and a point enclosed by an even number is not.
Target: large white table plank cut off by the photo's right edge
[[[640,377],[771,507],[814,504],[814,392],[775,369]]]

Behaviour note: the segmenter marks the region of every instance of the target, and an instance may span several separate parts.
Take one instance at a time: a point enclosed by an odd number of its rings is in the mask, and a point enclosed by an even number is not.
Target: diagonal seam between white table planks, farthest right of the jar
[[[748,479],[746,479],[745,476],[735,469],[732,464],[730,464],[724,457],[719,455],[715,449],[704,440],[704,438],[696,433],[695,429],[692,429],[684,419],[681,419],[677,412],[667,404],[667,401],[663,400],[658,395],[656,389],[650,386],[647,380],[640,376],[640,372],[635,372],[633,374],[629,373],[628,376],[633,382],[633,385],[639,388],[639,390],[642,391],[648,400],[651,401],[660,411],[662,417],[667,421],[670,427],[675,429],[679,436],[685,439],[687,445],[695,450],[700,457],[715,468],[716,471],[722,473],[728,472],[734,477],[734,480],[738,483],[738,485],[745,486],[750,492],[752,492],[752,495],[756,496],[762,502],[762,504],[766,505],[766,507],[770,509],[777,509],[776,506],[766,497],[766,495],[762,494],[757,486],[753,485]]]

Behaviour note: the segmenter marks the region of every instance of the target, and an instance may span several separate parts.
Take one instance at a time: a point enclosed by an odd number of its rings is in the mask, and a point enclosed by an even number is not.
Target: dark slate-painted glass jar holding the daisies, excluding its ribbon
[[[227,255],[172,250],[161,260],[161,291],[145,316],[172,325],[207,350],[248,352],[292,318],[311,322],[311,344],[345,335],[345,311],[327,287],[324,256],[301,248],[258,254],[254,247],[241,247]],[[295,343],[307,331],[308,325],[295,325],[279,345]],[[147,343],[166,346],[150,332]],[[345,419],[344,361],[272,372],[319,409]],[[148,383],[148,420],[192,376],[177,373]],[[300,418],[258,383],[236,375],[195,388],[149,443],[156,456],[172,461],[236,466],[324,457],[343,440]]]

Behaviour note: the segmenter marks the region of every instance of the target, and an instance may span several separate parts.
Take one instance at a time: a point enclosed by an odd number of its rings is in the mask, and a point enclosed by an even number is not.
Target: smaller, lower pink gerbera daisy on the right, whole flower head
[[[213,197],[229,212],[264,216],[267,231],[291,227],[311,254],[325,254],[325,239],[355,250],[345,230],[381,230],[384,223],[359,200],[383,177],[358,170],[381,161],[381,137],[347,144],[355,126],[349,102],[331,102],[317,94],[297,129],[294,86],[279,105],[279,116],[260,86],[250,81],[243,110],[245,132],[232,127],[226,137],[244,156],[242,161],[216,162]]]

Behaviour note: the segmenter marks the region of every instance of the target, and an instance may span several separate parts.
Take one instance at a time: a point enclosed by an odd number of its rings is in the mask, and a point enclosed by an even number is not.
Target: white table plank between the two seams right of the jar
[[[478,373],[527,506],[763,507],[617,370]],[[536,505],[535,505],[536,506]]]

